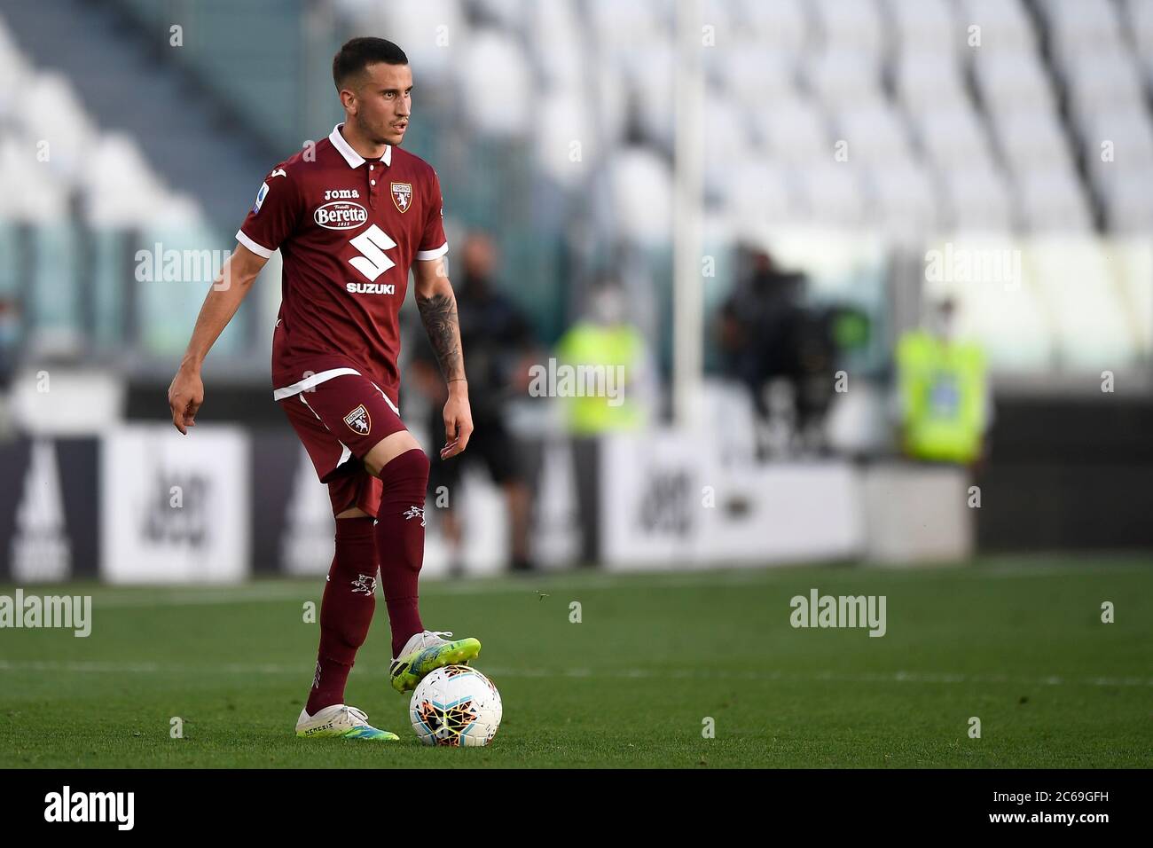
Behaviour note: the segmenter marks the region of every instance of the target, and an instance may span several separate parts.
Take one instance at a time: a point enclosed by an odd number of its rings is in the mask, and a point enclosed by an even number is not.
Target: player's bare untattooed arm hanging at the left
[[[264,256],[238,243],[232,256],[225,260],[220,275],[212,284],[212,291],[204,299],[188,350],[180,362],[180,370],[168,387],[172,423],[182,434],[187,435],[188,428],[196,425],[196,412],[204,403],[204,383],[201,381],[204,358],[236,314],[265,262],[267,260]]]

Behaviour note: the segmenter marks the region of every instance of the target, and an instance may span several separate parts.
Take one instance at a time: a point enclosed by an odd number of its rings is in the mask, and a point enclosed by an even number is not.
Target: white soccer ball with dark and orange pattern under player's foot
[[[500,727],[500,692],[468,666],[445,666],[427,675],[413,692],[408,716],[425,745],[480,748]]]

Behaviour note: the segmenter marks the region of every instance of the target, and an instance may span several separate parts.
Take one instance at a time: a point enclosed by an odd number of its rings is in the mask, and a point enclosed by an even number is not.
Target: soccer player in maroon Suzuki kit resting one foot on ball
[[[449,641],[443,637],[451,632],[424,630],[417,608],[429,460],[397,405],[398,312],[409,269],[447,384],[442,459],[468,445],[473,417],[444,267],[440,183],[428,163],[399,147],[412,106],[408,58],[382,38],[354,38],[333,59],[332,78],[344,123],[265,178],[201,308],[168,405],[173,425],[187,434],[204,400],[201,363],[279,249],[273,398],[327,485],[337,517],[316,675],[296,735],[395,740],[345,704],[345,682],[376,607],[377,570],[392,629],[393,689],[414,689],[432,669],[468,662],[481,650],[476,639]]]

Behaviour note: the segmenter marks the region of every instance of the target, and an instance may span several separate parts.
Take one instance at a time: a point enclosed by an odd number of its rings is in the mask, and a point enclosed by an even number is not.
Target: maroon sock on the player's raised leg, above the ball
[[[392,655],[397,656],[408,638],[424,629],[416,602],[416,581],[424,562],[429,458],[420,448],[405,451],[380,468],[380,482],[384,491],[376,516],[376,550],[392,628]]]

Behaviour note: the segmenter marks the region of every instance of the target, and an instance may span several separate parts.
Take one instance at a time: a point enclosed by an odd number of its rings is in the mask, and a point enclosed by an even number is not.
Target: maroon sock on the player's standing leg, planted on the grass
[[[371,518],[338,518],[337,550],[321,600],[321,650],[309,715],[345,703],[345,683],[376,609],[376,540]]]

